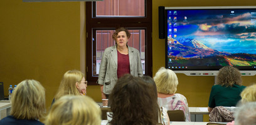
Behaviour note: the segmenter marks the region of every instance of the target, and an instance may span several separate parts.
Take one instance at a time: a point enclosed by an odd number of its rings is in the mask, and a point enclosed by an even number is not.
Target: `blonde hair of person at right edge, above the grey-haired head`
[[[242,103],[256,101],[256,84],[247,86],[241,93]]]

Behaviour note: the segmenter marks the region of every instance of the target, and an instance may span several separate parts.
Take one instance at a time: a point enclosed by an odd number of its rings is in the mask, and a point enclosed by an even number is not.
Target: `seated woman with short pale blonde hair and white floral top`
[[[190,121],[188,102],[182,94],[175,93],[178,86],[178,78],[171,69],[160,68],[154,81],[157,88],[157,101],[159,106],[167,110],[182,110],[185,120]]]

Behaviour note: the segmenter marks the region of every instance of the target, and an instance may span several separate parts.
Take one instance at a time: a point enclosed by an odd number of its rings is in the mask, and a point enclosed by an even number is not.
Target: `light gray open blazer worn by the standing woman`
[[[143,76],[141,56],[134,47],[129,47],[130,72],[132,76]],[[117,81],[117,47],[107,47],[100,62],[98,84],[104,85],[103,93],[110,94]]]

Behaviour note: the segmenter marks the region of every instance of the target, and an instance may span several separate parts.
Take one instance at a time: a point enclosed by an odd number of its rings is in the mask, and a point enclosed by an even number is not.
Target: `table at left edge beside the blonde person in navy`
[[[9,116],[11,112],[11,103],[10,101],[0,101],[0,120]]]

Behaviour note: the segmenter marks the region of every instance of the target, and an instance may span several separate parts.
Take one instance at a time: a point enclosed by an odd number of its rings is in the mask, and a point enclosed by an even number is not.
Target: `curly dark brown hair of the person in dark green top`
[[[216,84],[221,86],[233,86],[233,84],[242,85],[242,78],[239,69],[233,66],[224,66],[220,69]]]

